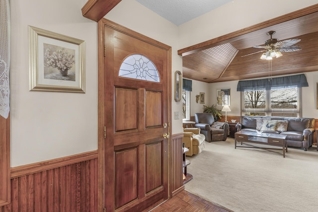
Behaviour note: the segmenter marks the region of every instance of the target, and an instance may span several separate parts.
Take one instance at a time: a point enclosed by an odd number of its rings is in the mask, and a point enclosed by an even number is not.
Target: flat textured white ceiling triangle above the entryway
[[[163,18],[180,25],[234,0],[136,0]]]

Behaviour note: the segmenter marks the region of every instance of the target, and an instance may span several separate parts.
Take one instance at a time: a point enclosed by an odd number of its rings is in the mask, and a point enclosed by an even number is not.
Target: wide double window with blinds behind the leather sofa
[[[300,117],[300,93],[297,86],[242,91],[242,115]]]

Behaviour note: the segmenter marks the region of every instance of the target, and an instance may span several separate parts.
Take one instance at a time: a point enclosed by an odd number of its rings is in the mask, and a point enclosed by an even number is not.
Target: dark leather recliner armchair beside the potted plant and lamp
[[[229,124],[225,122],[215,122],[211,113],[196,113],[195,127],[201,129],[205,136],[205,141],[226,141],[229,134]]]

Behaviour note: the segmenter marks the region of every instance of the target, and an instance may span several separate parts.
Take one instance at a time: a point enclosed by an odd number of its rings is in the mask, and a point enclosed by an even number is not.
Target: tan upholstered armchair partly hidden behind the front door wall
[[[184,128],[183,129],[183,140],[184,147],[189,149],[185,153],[187,156],[193,154],[199,154],[205,147],[205,136],[200,134],[200,128]]]

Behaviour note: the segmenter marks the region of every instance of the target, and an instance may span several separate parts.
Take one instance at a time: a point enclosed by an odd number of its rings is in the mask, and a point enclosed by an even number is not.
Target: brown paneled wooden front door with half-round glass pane
[[[168,198],[170,47],[105,23],[105,208],[143,211]]]

